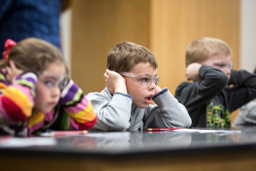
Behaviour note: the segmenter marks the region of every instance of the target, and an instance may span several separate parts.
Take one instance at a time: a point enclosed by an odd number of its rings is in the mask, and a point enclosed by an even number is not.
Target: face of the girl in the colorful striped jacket
[[[46,70],[38,76],[38,81],[35,85],[36,110],[49,113],[58,104],[61,90],[56,84],[65,77],[65,74],[65,65],[61,63],[51,63]]]

